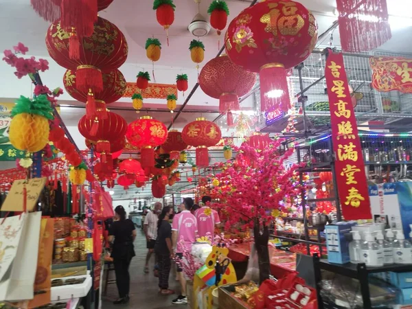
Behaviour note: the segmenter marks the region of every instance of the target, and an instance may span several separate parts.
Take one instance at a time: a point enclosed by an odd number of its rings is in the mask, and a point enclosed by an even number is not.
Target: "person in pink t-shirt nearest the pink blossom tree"
[[[202,202],[203,207],[194,211],[194,216],[196,217],[198,223],[198,236],[206,236],[210,233],[211,239],[214,239],[214,228],[215,225],[220,225],[220,218],[218,211],[211,209],[208,205],[211,202],[210,196],[203,196]]]

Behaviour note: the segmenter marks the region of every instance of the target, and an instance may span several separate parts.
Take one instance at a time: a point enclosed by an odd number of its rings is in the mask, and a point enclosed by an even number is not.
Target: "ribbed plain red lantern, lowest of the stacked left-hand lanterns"
[[[97,141],[95,151],[102,155],[100,160],[105,163],[106,155],[111,152],[111,142],[126,134],[127,122],[112,112],[107,112],[107,119],[87,119],[84,115],[79,120],[78,129],[86,139]]]

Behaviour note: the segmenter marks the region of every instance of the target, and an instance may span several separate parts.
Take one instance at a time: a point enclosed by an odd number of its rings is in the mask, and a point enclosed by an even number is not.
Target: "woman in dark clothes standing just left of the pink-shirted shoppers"
[[[159,288],[161,295],[172,295],[174,290],[169,289],[169,274],[172,265],[172,226],[169,220],[172,219],[173,209],[169,206],[163,207],[157,222],[157,240],[155,253],[159,266]]]

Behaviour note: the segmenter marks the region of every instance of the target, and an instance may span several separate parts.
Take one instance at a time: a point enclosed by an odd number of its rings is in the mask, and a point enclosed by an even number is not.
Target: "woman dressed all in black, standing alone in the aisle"
[[[119,299],[113,304],[126,304],[129,301],[130,290],[128,268],[135,256],[133,242],[136,238],[136,230],[132,220],[126,219],[126,211],[121,205],[115,208],[115,222],[111,225],[108,235],[109,242],[115,240],[111,257],[115,266],[116,284],[119,291]]]

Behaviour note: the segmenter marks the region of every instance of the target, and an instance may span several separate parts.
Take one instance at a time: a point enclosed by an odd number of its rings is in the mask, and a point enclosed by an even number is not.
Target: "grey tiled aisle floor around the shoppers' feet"
[[[146,259],[146,238],[144,233],[137,231],[135,240],[136,256],[130,264],[130,303],[127,305],[113,305],[113,301],[117,299],[116,284],[108,284],[107,295],[102,297],[102,308],[144,308],[144,309],[168,309],[168,308],[186,308],[186,305],[173,305],[172,299],[176,295],[162,296],[158,294],[158,279],[153,276],[152,271],[149,274],[144,273],[144,264]],[[150,269],[152,270],[155,262],[153,256],[150,261]],[[113,276],[113,277],[112,277]],[[111,278],[114,278],[115,272],[111,271]],[[177,293],[180,292],[179,282],[175,281],[174,266],[170,272],[170,288]]]

